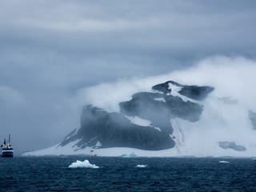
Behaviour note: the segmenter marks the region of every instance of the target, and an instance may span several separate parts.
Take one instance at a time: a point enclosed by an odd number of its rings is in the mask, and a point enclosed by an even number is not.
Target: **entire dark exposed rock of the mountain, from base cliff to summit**
[[[175,145],[171,138],[171,118],[190,122],[199,120],[203,106],[194,100],[206,98],[214,90],[210,86],[183,86],[165,82],[150,92],[134,94],[130,101],[119,103],[120,113],[109,113],[94,106],[82,111],[81,128],[71,132],[61,143],[79,139],[76,146],[133,147],[142,150],[164,150]],[[147,126],[130,121],[138,117],[150,122]]]

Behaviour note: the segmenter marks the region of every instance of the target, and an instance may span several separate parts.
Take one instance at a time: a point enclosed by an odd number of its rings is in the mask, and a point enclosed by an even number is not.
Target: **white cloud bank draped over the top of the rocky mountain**
[[[130,78],[112,83],[101,83],[78,90],[81,105],[92,104],[118,112],[118,103],[130,100],[137,92],[149,91],[155,84],[173,80],[185,85],[213,86],[213,97],[234,98],[247,109],[254,109],[256,90],[256,62],[246,58],[214,56],[203,59],[186,70],[174,70],[147,78]]]

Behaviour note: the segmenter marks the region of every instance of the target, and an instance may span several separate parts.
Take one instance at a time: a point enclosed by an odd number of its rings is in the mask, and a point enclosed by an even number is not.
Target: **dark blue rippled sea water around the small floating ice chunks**
[[[100,169],[67,168],[88,159]],[[218,158],[0,158],[1,191],[256,191],[256,161]],[[146,168],[135,167],[146,164]]]

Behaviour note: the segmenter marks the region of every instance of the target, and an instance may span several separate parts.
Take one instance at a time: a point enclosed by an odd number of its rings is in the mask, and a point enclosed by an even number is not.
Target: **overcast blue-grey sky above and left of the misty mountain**
[[[88,86],[216,55],[254,60],[255,10],[236,0],[0,0],[0,139],[11,134],[18,153],[62,141],[79,127]]]

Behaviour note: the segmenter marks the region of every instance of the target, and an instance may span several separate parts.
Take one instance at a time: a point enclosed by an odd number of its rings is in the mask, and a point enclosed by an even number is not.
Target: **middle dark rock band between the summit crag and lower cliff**
[[[163,98],[165,102],[159,102]],[[158,93],[134,94],[128,102],[120,103],[121,112],[130,116],[150,119],[156,126],[170,126],[170,118],[178,117],[191,122],[198,121],[203,107],[195,102],[184,102],[182,98]]]

